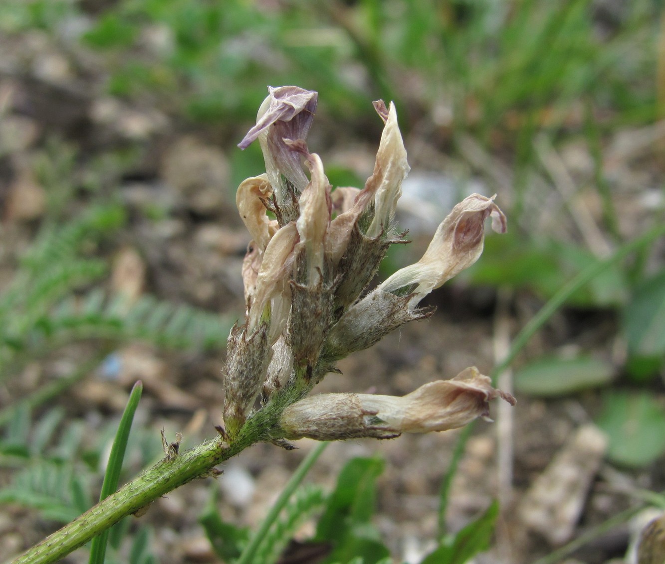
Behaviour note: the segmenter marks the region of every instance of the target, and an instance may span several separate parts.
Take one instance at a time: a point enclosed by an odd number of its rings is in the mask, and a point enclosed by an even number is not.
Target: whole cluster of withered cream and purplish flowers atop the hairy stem
[[[428,432],[487,415],[487,402],[513,397],[468,368],[452,380],[404,397],[322,394],[305,397],[335,363],[407,322],[429,316],[418,304],[477,260],[484,222],[505,231],[493,198],[467,197],[438,227],[422,258],[363,294],[390,244],[404,242],[392,219],[410,168],[394,104],[374,108],[384,122],[376,163],[363,189],[332,189],[321,158],[305,142],[317,92],[269,88],[239,147],[259,140],[266,172],[238,188],[251,234],[243,262],[247,311],[229,335],[224,421],[229,440],[255,411],[281,402],[271,438],[320,440]],[[301,163],[309,169],[309,179]]]

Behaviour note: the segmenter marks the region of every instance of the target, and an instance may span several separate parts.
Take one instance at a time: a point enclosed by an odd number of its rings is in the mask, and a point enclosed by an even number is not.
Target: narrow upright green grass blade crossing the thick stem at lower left
[[[118,482],[120,481],[120,470],[122,470],[122,460],[127,448],[127,440],[129,432],[132,428],[132,421],[134,420],[134,413],[138,407],[138,402],[141,399],[143,391],[143,383],[139,380],[134,384],[132,393],[130,393],[127,406],[120,419],[118,425],[118,432],[116,438],[113,440],[111,454],[108,456],[108,464],[106,464],[106,474],[104,474],[104,483],[102,484],[102,492],[99,500],[102,501],[118,489]],[[108,541],[108,529],[102,531],[98,536],[92,539],[92,546],[90,547],[90,564],[104,564],[104,557],[106,556],[106,541]]]

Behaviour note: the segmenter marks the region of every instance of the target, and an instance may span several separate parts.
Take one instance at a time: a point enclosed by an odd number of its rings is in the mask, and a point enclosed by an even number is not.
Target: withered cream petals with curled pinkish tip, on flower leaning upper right
[[[494,231],[505,233],[505,216],[494,198],[471,194],[456,205],[439,225],[422,258],[395,272],[379,288],[391,293],[406,290],[412,296],[409,307],[414,309],[434,288],[471,266],[483,252],[487,217],[491,216]]]

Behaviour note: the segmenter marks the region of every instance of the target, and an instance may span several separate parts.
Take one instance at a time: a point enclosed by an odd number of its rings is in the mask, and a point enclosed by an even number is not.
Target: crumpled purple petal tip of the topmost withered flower
[[[314,90],[304,90],[297,86],[268,86],[269,106],[265,113],[257,117],[256,125],[247,132],[238,147],[246,149],[252,141],[277,122],[292,122],[291,126],[280,128],[280,138],[298,140],[307,138],[317,110],[319,94]]]

